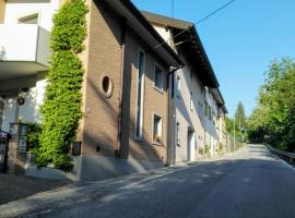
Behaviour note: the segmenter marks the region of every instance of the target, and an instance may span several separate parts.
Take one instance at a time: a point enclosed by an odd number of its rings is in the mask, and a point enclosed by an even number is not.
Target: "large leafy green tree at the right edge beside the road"
[[[283,150],[295,150],[295,62],[274,60],[260,88],[249,118],[249,138],[268,142]]]

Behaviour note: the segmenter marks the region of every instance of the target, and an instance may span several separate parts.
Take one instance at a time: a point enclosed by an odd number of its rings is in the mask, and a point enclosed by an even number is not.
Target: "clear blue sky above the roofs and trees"
[[[172,16],[173,0],[132,0],[140,9]],[[174,0],[174,16],[196,23],[228,0]],[[295,58],[295,0],[236,0],[197,26],[221,84],[229,116],[243,101],[246,114],[273,59]]]

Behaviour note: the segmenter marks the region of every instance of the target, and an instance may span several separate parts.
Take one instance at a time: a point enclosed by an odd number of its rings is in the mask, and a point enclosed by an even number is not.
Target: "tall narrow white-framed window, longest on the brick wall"
[[[143,61],[143,75],[142,75],[142,81],[141,81],[141,106],[140,106],[140,126],[139,126],[139,135],[137,135],[137,124],[138,124],[138,95],[139,95],[139,71],[140,71],[140,68],[139,68],[139,64],[140,64],[140,53],[143,53],[143,57],[144,57],[144,61]],[[145,81],[145,61],[146,61],[146,55],[145,52],[143,51],[143,49],[139,48],[139,51],[138,51],[138,71],[137,71],[137,100],[135,100],[135,123],[134,123],[134,140],[138,140],[138,141],[142,141],[143,140],[143,134],[142,134],[142,129],[143,129],[143,113],[144,113],[144,81]]]

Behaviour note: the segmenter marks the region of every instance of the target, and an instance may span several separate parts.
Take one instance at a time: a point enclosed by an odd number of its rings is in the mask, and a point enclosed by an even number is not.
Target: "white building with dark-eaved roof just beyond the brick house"
[[[194,161],[205,152],[214,155],[220,148],[220,114],[226,113],[226,108],[196,27],[189,22],[142,13],[184,62],[170,78],[172,164]]]

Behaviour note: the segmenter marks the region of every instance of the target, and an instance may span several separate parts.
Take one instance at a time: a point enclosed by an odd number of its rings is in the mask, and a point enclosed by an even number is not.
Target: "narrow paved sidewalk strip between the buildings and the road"
[[[231,155],[232,154],[226,154],[223,157],[208,158],[205,160],[200,160],[199,162],[179,164],[173,167],[165,167],[143,173],[133,173],[97,182],[88,182],[76,186],[67,186],[59,191],[49,191],[32,195],[20,201],[0,205],[0,218],[42,217],[43,215],[49,214],[54,210],[58,211],[73,207],[76,204],[99,198],[126,185],[154,180],[179,170],[185,170],[191,166],[215,161]]]

